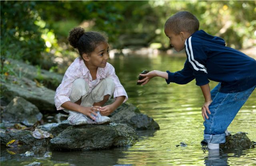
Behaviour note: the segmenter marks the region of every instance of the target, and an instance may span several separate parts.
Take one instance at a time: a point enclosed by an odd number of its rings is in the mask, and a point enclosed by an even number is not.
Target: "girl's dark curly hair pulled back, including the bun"
[[[85,32],[82,27],[75,27],[69,32],[68,41],[82,57],[84,53],[90,55],[98,44],[108,42],[108,38],[99,32]]]

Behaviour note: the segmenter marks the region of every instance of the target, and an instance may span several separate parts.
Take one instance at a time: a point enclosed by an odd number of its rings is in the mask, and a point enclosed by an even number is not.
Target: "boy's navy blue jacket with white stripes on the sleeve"
[[[167,84],[187,84],[196,78],[202,86],[213,80],[221,82],[219,92],[242,92],[256,85],[256,61],[225,46],[225,41],[200,30],[185,42],[187,59],[184,68],[168,72]]]

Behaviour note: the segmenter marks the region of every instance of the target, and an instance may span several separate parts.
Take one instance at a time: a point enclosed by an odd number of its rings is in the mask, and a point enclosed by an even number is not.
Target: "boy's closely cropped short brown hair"
[[[194,33],[199,29],[199,21],[192,13],[187,11],[177,12],[172,15],[164,24],[164,29],[170,29],[178,35],[182,31]]]

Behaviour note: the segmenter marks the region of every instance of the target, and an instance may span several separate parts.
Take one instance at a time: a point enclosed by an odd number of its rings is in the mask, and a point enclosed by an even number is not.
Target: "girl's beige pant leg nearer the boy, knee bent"
[[[86,98],[82,97],[81,105],[90,107],[95,102],[102,101],[106,95],[110,95],[110,99],[114,93],[114,89],[115,84],[112,78],[104,78],[92,89],[92,92],[90,92]]]

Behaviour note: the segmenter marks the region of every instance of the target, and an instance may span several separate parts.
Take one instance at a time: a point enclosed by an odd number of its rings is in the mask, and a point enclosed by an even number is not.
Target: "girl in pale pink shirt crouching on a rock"
[[[69,112],[71,125],[102,124],[128,99],[124,87],[109,64],[108,41],[98,32],[81,27],[70,31],[68,41],[80,57],[68,67],[54,97],[57,110]],[[115,101],[104,105],[114,93]]]

